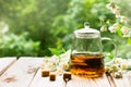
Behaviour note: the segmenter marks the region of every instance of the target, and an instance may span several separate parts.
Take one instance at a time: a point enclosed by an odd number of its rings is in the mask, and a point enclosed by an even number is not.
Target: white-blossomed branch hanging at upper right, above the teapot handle
[[[117,22],[108,27],[109,22],[107,21],[100,27],[100,32],[107,32],[108,29],[110,33],[117,33],[119,36],[131,37],[131,28],[126,26],[127,20],[126,16],[120,14],[120,8],[114,2],[108,3],[106,7],[116,15]]]

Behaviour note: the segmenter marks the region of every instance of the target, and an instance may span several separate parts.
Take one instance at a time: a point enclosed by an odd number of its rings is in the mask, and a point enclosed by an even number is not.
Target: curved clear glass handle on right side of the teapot
[[[111,38],[108,38],[108,37],[103,37],[103,38],[102,38],[102,41],[103,41],[103,40],[111,41],[111,44],[112,44],[114,47],[115,47],[115,57],[112,58],[111,61],[105,63],[106,65],[109,65],[109,64],[114,63],[115,59],[117,58],[117,45],[115,44],[115,41],[114,41]]]

